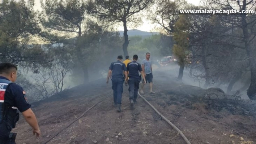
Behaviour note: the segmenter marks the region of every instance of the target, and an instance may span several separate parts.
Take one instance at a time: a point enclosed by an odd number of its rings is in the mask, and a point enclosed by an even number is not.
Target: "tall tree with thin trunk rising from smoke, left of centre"
[[[78,0],[46,0],[45,4],[41,1],[43,8],[42,19],[43,26],[48,30],[57,32],[65,32],[66,36],[72,37],[72,34],[77,34],[77,39],[74,42],[68,42],[68,45],[75,46],[74,53],[81,65],[84,73],[84,83],[88,82],[88,67],[84,65],[84,57],[82,51],[86,47],[77,45],[82,36],[82,28],[85,23],[85,3]],[[69,35],[67,35],[67,32]]]

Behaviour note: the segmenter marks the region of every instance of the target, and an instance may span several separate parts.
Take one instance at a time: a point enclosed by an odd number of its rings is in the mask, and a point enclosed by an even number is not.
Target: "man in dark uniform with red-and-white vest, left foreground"
[[[16,144],[16,133],[11,133],[19,120],[18,110],[27,123],[33,128],[33,134],[41,132],[37,118],[25,97],[26,92],[14,83],[17,78],[17,67],[9,62],[0,63],[0,144]]]

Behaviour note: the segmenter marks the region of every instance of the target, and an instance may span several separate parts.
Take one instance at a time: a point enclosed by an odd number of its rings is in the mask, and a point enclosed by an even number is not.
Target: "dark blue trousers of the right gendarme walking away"
[[[128,89],[129,90],[129,99],[137,100],[140,79],[129,78],[128,84],[129,84],[129,89]]]

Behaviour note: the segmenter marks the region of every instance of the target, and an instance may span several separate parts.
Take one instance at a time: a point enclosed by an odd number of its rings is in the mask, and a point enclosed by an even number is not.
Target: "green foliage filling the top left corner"
[[[23,66],[47,65],[47,53],[32,44],[32,36],[38,36],[38,12],[34,1],[4,0],[0,3],[0,62],[9,61]]]

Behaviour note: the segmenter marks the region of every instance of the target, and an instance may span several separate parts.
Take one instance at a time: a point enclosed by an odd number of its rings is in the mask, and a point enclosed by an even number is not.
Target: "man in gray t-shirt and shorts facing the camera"
[[[150,58],[150,53],[147,52],[146,53],[146,58],[144,60],[142,60],[141,62],[141,67],[142,67],[142,71],[144,72],[144,74],[146,74],[145,79],[146,79],[146,83],[149,82],[149,86],[150,86],[150,93],[155,93],[152,88],[153,88],[153,74],[152,74],[152,62],[149,60]],[[142,84],[141,87],[141,94],[144,94],[143,89],[144,89],[145,84]]]

